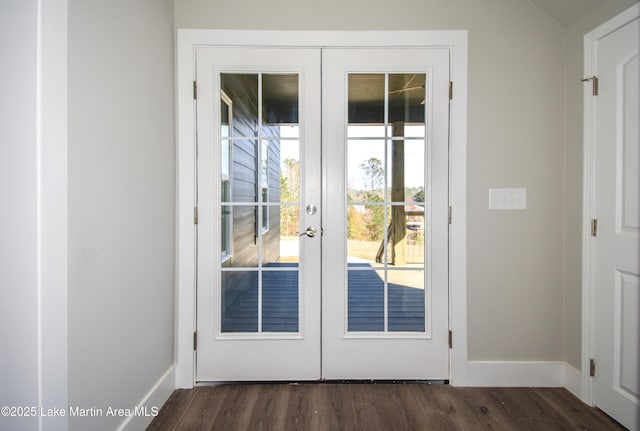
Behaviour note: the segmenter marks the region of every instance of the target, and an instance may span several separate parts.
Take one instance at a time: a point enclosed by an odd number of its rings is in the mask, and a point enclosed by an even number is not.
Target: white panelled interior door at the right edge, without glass
[[[640,21],[598,42],[593,403],[640,429]]]

